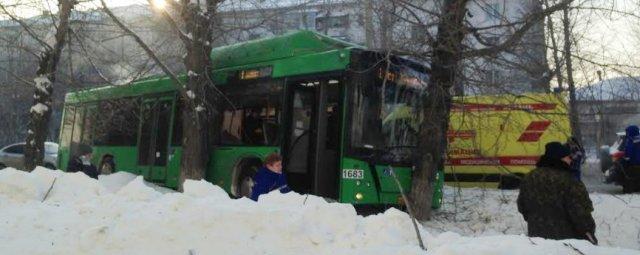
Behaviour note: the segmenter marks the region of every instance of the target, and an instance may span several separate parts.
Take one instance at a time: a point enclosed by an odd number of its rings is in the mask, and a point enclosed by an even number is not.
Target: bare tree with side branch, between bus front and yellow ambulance
[[[516,28],[501,43],[488,44],[485,48],[467,47],[463,40],[467,34],[478,37],[481,30],[465,23],[468,0],[445,0],[437,21],[437,34],[430,40],[431,76],[427,95],[423,96],[423,118],[420,125],[418,152],[420,159],[414,171],[411,187],[416,217],[420,220],[431,216],[431,196],[436,172],[443,167],[447,150],[447,129],[451,109],[451,88],[459,80],[459,65],[467,58],[495,56],[516,45],[526,32],[550,13],[564,8],[572,0],[564,0],[544,10],[526,15],[522,20],[509,24]],[[479,38],[480,40],[482,38]]]

